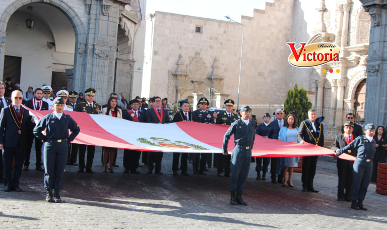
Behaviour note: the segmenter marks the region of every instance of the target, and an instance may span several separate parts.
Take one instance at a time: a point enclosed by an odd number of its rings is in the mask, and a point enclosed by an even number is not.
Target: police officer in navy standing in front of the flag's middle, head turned
[[[255,123],[250,121],[251,108],[248,105],[242,105],[240,111],[242,117],[227,130],[223,138],[222,148],[223,155],[228,155],[228,140],[234,134],[235,147],[231,153],[232,174],[230,180],[230,203],[232,205],[247,205],[242,199],[242,192],[250,169],[251,149],[255,140]]]

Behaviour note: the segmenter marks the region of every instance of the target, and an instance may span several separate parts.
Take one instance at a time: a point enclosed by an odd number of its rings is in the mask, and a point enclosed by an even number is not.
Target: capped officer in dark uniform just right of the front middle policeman
[[[255,134],[258,134],[262,137],[266,137],[266,135],[269,133],[270,129],[272,128],[272,125],[270,124],[270,113],[267,112],[264,115],[264,123],[259,124],[255,129]],[[261,171],[262,173],[262,180],[266,181],[266,172],[268,172],[268,166],[270,164],[270,157],[253,157],[256,160],[256,180],[261,180]],[[262,161],[264,163],[262,164]]]

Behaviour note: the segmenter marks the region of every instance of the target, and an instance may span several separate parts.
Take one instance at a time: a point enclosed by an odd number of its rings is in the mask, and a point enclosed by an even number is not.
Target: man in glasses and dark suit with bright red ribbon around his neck
[[[155,97],[153,109],[148,109],[147,113],[145,114],[145,122],[154,124],[166,124],[171,122],[169,120],[168,111],[161,107],[161,97]],[[163,173],[161,172],[161,160],[163,158],[163,155],[163,152],[148,153],[147,174],[152,174],[153,163],[155,162],[155,174],[163,175]]]

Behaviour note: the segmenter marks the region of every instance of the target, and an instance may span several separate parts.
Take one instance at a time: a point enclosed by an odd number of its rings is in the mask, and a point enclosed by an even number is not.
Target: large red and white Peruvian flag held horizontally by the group
[[[52,110],[30,110],[37,121]],[[96,145],[121,149],[160,152],[208,152],[222,153],[224,134],[229,126],[209,125],[195,122],[171,124],[136,123],[103,114],[69,112],[79,125],[81,132],[73,143]],[[234,147],[231,137],[228,149]],[[255,135],[252,156],[290,157],[333,155],[334,151],[312,144],[298,144],[287,141],[267,139]],[[344,156],[343,156],[344,155]],[[347,154],[340,157],[354,159]]]

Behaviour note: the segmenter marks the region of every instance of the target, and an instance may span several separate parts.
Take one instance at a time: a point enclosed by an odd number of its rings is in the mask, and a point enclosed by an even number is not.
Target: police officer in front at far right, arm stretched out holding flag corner
[[[364,127],[365,135],[357,137],[352,143],[336,152],[340,156],[348,150],[357,148],[357,157],[353,163],[353,182],[351,189],[351,208],[355,210],[364,210],[367,208],[363,205],[365,194],[367,193],[369,182],[372,175],[372,159],[376,152],[375,126],[367,124]]]

